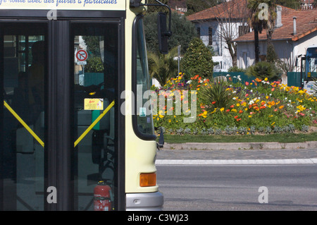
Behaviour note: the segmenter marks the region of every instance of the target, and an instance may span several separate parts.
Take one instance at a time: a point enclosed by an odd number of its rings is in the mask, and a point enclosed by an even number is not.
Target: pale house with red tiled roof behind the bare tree
[[[248,14],[247,0],[232,0],[187,16],[204,44],[213,47],[214,61],[219,62],[216,71],[226,71],[235,64],[237,46],[232,40],[250,31]]]

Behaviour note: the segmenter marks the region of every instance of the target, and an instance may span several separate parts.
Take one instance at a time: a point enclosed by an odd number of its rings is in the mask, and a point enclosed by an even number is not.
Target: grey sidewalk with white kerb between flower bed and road
[[[317,142],[165,144],[156,164],[317,164]]]

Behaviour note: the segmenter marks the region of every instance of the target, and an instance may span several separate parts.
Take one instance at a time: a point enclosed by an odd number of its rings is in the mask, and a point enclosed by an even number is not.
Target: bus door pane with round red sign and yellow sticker
[[[111,190],[111,207],[107,210],[113,210],[116,209],[113,204],[117,167],[116,104],[113,106],[113,102],[118,87],[118,25],[80,23],[73,24],[72,30],[75,53],[75,209],[93,210],[94,188],[99,181],[104,181]],[[78,60],[77,51],[84,52],[84,55],[87,52],[87,59]],[[107,107],[109,110],[103,114]],[[101,114],[100,121],[91,127]]]

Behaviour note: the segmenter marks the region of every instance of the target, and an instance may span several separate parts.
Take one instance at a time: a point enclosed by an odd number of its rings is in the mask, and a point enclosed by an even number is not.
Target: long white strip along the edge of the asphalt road
[[[157,159],[156,165],[273,165],[317,164],[311,159]]]

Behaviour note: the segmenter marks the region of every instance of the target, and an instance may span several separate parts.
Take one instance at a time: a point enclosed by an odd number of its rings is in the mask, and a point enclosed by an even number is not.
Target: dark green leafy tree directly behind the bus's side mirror
[[[147,49],[156,52],[159,49],[156,28],[157,14],[151,13],[144,18],[144,31],[147,40]],[[197,31],[194,24],[188,21],[185,16],[178,13],[172,13],[171,30],[172,37],[168,39],[168,49],[178,45],[181,46],[181,53],[184,54],[189,42],[193,37],[197,37]]]

